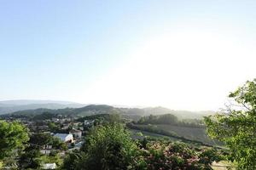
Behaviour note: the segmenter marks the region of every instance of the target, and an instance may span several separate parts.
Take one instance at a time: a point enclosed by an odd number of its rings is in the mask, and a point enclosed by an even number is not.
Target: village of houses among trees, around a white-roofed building
[[[43,119],[32,119],[26,116],[8,116],[7,122],[21,122],[31,136],[30,147],[39,150],[40,156],[49,159],[58,157],[63,160],[68,153],[79,150],[84,144],[84,136],[89,128],[95,125],[94,119],[86,120],[78,116],[62,116],[43,113]],[[33,141],[32,141],[33,139]],[[43,169],[56,169],[58,162],[44,163]]]

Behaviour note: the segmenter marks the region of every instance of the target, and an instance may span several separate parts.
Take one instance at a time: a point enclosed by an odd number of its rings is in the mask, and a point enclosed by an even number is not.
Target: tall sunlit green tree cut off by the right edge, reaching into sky
[[[230,93],[232,105],[215,116],[205,117],[207,133],[223,141],[240,169],[256,169],[256,79]]]

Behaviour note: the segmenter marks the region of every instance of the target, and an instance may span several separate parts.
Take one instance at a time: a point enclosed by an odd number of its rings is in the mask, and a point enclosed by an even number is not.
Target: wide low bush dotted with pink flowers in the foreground
[[[183,143],[149,142],[141,149],[135,169],[212,169],[212,161],[220,161],[217,150],[201,149]]]

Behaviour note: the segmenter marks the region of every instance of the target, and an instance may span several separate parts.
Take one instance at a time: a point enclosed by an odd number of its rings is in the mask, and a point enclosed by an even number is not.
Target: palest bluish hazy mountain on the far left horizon
[[[83,104],[69,102],[69,101],[55,101],[55,100],[5,100],[0,101],[0,115],[13,113],[15,111],[44,109],[64,109],[64,108],[79,108]]]

